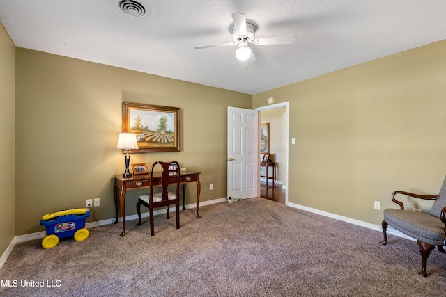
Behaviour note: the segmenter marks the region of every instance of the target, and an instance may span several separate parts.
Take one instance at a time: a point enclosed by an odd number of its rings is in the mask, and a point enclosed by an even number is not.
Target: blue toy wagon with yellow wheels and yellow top
[[[75,241],[84,241],[89,237],[85,228],[85,219],[90,216],[89,209],[66,209],[52,214],[45,214],[40,225],[46,226],[43,248],[54,248],[59,239],[74,236]]]

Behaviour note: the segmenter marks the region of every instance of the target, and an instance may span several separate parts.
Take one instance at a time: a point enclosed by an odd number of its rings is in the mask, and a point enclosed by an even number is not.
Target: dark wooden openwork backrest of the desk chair
[[[172,165],[175,165],[175,170],[169,170],[169,167]],[[155,172],[154,168],[156,166],[162,167],[161,185],[159,185],[159,184],[153,185],[153,174]],[[153,201],[153,186],[162,186],[161,201],[169,200],[169,198],[168,198],[169,184],[176,184],[176,198],[179,199],[179,197],[180,197],[180,165],[178,164],[177,161],[169,161],[169,162],[156,161],[151,166],[151,179],[149,181],[149,186],[151,188],[151,191],[150,191],[151,202]]]

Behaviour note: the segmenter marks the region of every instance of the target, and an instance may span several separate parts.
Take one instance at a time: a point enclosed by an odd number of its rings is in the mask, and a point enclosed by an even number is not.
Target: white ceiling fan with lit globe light
[[[238,49],[236,51],[236,57],[238,60],[247,61],[249,58],[251,58],[252,61],[256,61],[256,58],[249,47],[249,43],[254,43],[254,45],[291,45],[296,41],[295,35],[255,38],[256,35],[254,34],[254,25],[246,22],[246,17],[243,13],[233,13],[232,20],[233,42],[221,43],[218,45],[202,45],[199,47],[194,47],[194,49],[238,45]]]

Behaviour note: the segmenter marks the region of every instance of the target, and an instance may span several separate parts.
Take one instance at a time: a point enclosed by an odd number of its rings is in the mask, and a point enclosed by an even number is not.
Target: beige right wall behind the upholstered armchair
[[[380,224],[392,191],[438,193],[445,53],[443,40],[254,95],[290,102],[289,202]]]

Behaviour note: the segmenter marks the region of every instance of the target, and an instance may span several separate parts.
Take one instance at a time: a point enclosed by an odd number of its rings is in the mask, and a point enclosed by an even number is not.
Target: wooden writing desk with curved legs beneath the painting
[[[133,190],[135,188],[148,188],[148,181],[150,175],[133,175],[130,178],[124,178],[123,175],[114,175],[114,186],[113,186],[113,196],[114,196],[114,206],[116,209],[116,219],[114,224],[118,223],[119,206],[121,206],[121,215],[123,216],[123,232],[121,236],[125,235],[125,192],[127,190]],[[153,184],[161,184],[161,172],[153,172]],[[172,184],[174,184],[174,178],[172,178]],[[180,173],[180,184],[183,187],[183,210],[186,209],[184,206],[185,201],[185,189],[186,184],[196,183],[197,184],[197,218],[200,218],[198,214],[198,204],[200,201],[200,172],[181,172]]]

